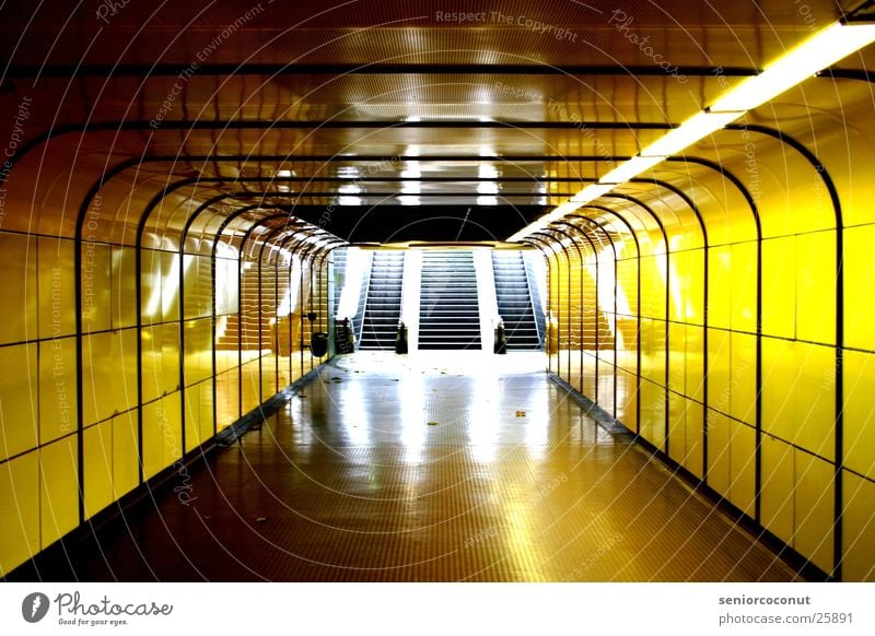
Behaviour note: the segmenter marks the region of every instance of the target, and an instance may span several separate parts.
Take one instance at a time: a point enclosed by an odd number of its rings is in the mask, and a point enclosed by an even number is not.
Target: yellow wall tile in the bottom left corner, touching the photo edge
[[[39,551],[39,457],[0,463],[0,576]]]

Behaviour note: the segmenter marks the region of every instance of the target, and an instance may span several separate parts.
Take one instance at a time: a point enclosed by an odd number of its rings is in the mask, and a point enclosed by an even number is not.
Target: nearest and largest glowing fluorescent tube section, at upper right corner
[[[709,110],[756,108],[872,42],[875,42],[875,24],[833,24],[780,57],[760,74],[743,81]]]

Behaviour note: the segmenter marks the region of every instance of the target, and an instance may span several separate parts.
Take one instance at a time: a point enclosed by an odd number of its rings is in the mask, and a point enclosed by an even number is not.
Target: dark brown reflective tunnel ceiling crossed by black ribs
[[[187,215],[171,210],[210,200],[219,217],[253,207],[235,232],[279,211],[353,243],[503,240],[860,4],[7,3],[0,117],[13,130],[28,99],[28,141],[4,228],[72,235],[71,210],[98,192],[122,243],[141,223],[178,234]],[[852,128],[871,107],[873,64],[870,47],[745,126],[816,146],[818,121],[840,110]],[[725,198],[743,133],[617,193],[664,203],[666,223],[677,190]],[[788,161],[757,134],[762,158]]]

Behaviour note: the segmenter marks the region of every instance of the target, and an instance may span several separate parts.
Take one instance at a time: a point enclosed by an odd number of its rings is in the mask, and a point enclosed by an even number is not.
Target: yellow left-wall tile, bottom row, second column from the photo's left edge
[[[75,436],[39,449],[39,518],[43,549],[79,525],[79,458]]]

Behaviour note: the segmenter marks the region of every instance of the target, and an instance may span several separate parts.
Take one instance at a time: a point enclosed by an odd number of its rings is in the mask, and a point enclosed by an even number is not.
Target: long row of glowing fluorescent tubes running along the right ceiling
[[[598,182],[586,186],[555,210],[508,237],[508,242],[517,243],[540,232],[550,223],[633,179],[669,156],[682,152],[744,116],[748,110],[766,104],[873,42],[875,42],[873,23],[837,22],[816,33],[769,64],[762,72],[744,80],[709,107],[666,132],[641,150],[638,155],[615,167],[599,178]]]

